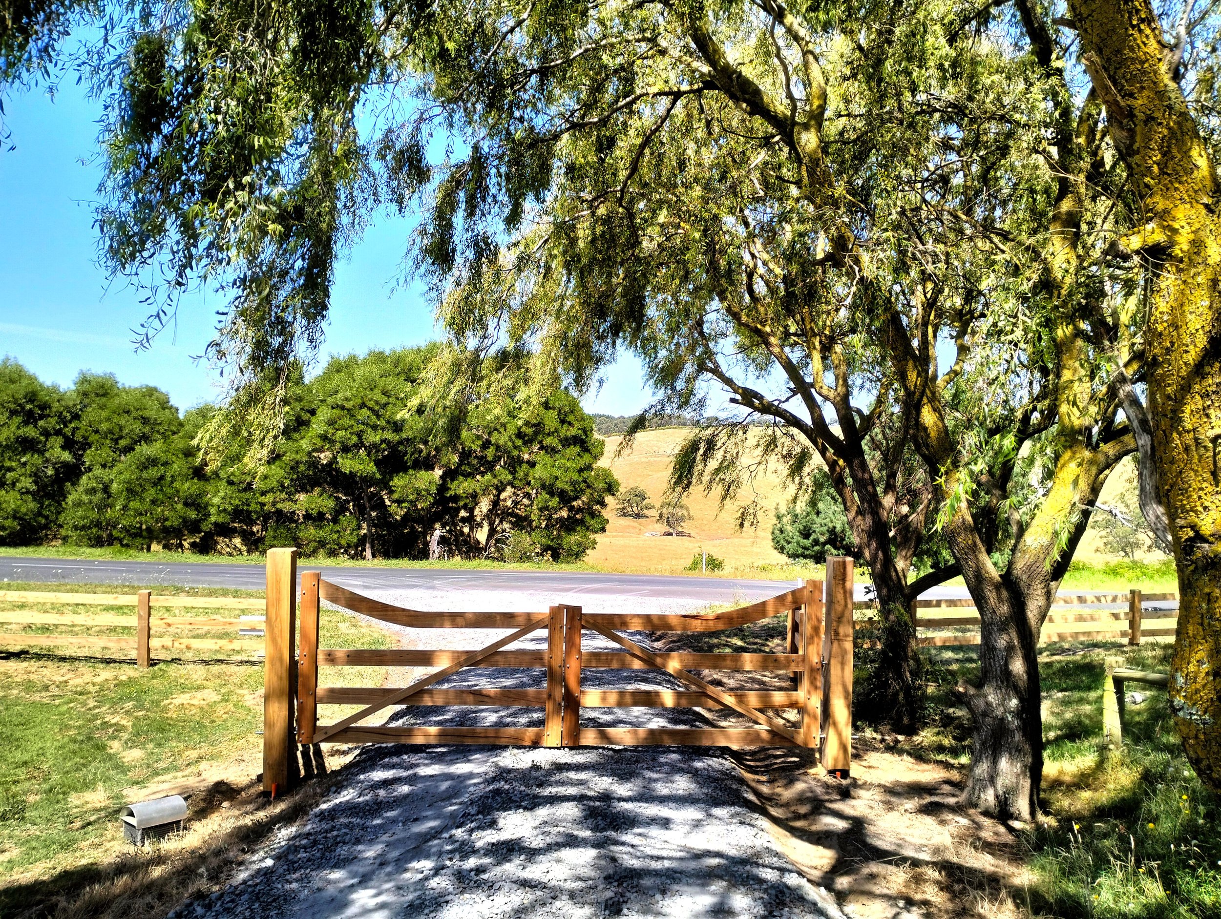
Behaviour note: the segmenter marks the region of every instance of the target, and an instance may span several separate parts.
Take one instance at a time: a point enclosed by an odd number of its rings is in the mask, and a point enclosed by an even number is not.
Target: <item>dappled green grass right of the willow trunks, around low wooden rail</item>
[[[966,765],[969,719],[952,687],[974,681],[977,658],[965,648],[929,651],[928,725],[900,748]],[[1040,655],[1045,813],[1022,836],[1035,915],[1221,917],[1221,803],[1183,757],[1166,692],[1129,683],[1144,701],[1126,708],[1125,747],[1100,748],[1104,658],[1166,672],[1170,654],[1170,644],[1065,642]]]

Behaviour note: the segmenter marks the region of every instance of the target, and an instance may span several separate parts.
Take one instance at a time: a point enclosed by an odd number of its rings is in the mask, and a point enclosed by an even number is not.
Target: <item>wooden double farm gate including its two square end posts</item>
[[[818,747],[823,765],[846,776],[851,759],[852,560],[828,559],[828,583],[805,586],[747,607],[713,614],[582,613],[559,604],[546,613],[425,613],[364,597],[322,580],[300,578],[300,642],[294,648],[295,549],[267,554],[266,670],[264,697],[264,788],[284,788],[295,771],[297,744],[313,743],[481,743],[542,747],[696,744],[725,747]],[[824,597],[825,594],[825,597]],[[475,651],[319,648],[319,602],[328,600],[374,619],[413,629],[512,629]],[[786,653],[654,653],[624,630],[712,632],[788,614]],[[531,632],[546,630],[546,648],[509,651]],[[585,651],[595,632],[623,651]],[[320,666],[438,668],[402,688],[320,687]],[[432,688],[465,668],[541,668],[546,688]],[[684,690],[582,690],[587,668],[658,669]],[[691,670],[781,671],[794,690],[726,692]],[[333,724],[319,724],[319,705],[363,708]],[[545,709],[542,727],[365,726],[359,723],[389,705],[502,705]],[[729,708],[753,727],[582,727],[581,708]],[[796,709],[789,726],[766,709]]]

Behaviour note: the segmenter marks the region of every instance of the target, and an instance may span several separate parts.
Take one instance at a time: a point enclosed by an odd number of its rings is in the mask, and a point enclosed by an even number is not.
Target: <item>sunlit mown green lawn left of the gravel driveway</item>
[[[118,589],[82,585],[2,587],[99,593]],[[164,586],[153,589],[161,594],[184,592]],[[189,593],[259,596],[228,589]],[[132,613],[129,607],[20,608],[81,615]],[[158,615],[167,613],[236,615],[221,609],[162,609]],[[0,631],[16,629],[6,625]],[[37,631],[103,630],[50,626]],[[335,648],[385,648],[394,643],[380,629],[331,610],[322,611],[320,640],[324,647]],[[249,652],[187,653],[200,659],[155,660],[150,669],[139,670],[134,653],[126,649],[88,654],[85,648],[26,651],[0,644],[0,914],[20,906],[5,893],[15,882],[28,888],[32,880],[118,856],[125,848],[118,809],[138,790],[205,771],[225,775],[228,770],[234,782],[249,780],[258,771],[261,660]],[[342,668],[324,672],[332,677],[328,682],[370,686],[381,685],[386,671]]]

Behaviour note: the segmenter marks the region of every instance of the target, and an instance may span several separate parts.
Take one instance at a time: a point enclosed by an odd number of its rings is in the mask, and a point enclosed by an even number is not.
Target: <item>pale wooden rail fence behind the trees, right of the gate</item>
[[[1147,603],[1158,605],[1147,609]],[[872,610],[875,607],[872,600],[856,603],[860,610]],[[1060,593],[1053,600],[1051,613],[1043,625],[1039,641],[1127,638],[1128,644],[1139,644],[1142,638],[1173,638],[1177,622],[1177,593]],[[916,629],[923,646],[979,644],[979,613],[972,599],[917,600]]]

